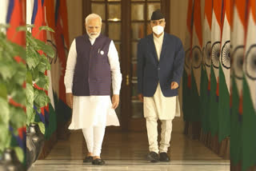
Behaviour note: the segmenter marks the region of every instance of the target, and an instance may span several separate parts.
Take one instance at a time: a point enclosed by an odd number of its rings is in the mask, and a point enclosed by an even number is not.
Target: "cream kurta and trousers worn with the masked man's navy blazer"
[[[162,50],[164,34],[159,38],[154,36],[154,46],[160,58]],[[146,117],[146,129],[149,141],[150,152],[158,153],[167,152],[170,146],[170,137],[172,131],[172,120],[175,116],[180,116],[178,98],[165,97],[162,94],[160,84],[153,97],[144,97],[143,103],[144,117]],[[158,119],[162,122],[161,125],[161,141],[158,149]]]

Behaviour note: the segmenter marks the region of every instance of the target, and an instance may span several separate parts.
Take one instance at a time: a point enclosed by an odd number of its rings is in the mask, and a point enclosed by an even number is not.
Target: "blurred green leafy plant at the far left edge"
[[[6,38],[2,30],[7,27],[0,25],[0,154],[5,149],[14,149],[19,161],[23,161],[22,149],[11,146],[10,129],[17,136],[18,128],[26,125],[26,50]],[[24,63],[17,62],[17,57]]]

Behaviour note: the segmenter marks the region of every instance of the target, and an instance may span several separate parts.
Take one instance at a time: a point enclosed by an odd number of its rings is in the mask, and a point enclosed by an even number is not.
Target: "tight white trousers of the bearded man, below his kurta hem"
[[[82,129],[83,136],[86,139],[88,152],[93,153],[93,156],[101,155],[105,128],[105,126],[92,126],[90,128]]]

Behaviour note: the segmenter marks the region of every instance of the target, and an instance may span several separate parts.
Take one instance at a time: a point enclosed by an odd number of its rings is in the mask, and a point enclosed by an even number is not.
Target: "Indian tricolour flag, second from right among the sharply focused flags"
[[[223,0],[213,1],[211,21],[211,62],[210,67],[210,131],[214,136],[218,133],[218,68],[221,53],[221,20]]]

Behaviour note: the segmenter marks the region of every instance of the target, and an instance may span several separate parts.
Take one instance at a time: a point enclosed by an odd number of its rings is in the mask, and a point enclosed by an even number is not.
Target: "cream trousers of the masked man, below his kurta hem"
[[[160,153],[168,151],[172,131],[172,119],[161,120],[161,141],[158,149],[158,117],[146,117],[146,131],[150,152]]]

